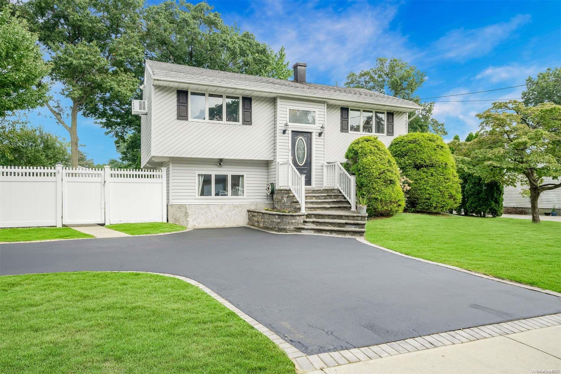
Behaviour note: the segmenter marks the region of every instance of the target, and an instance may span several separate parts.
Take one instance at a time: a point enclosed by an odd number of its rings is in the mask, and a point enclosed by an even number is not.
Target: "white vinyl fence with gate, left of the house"
[[[0,166],[0,227],[167,221],[165,168]]]

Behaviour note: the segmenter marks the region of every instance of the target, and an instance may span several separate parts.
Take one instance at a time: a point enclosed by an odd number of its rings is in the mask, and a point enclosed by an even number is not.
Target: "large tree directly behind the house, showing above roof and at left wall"
[[[284,48],[274,52],[267,44],[255,40],[247,31],[225,25],[220,13],[206,2],[190,4],[165,1],[146,7],[140,40],[145,57],[150,60],[177,63],[207,69],[287,79]],[[140,82],[142,66],[129,70]],[[134,98],[141,98],[137,89]],[[131,115],[131,97],[105,97],[89,108],[88,113],[100,118],[107,133],[115,136],[121,153],[113,163],[140,167],[140,117]]]

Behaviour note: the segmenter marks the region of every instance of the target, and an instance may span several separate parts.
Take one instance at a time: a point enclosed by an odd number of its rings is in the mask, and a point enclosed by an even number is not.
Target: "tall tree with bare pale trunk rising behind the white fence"
[[[142,5],[142,0],[30,0],[20,5],[48,53],[50,79],[62,84],[65,100],[46,105],[70,134],[74,167],[78,114],[93,116],[99,103],[128,101],[138,88],[131,67],[142,62]]]

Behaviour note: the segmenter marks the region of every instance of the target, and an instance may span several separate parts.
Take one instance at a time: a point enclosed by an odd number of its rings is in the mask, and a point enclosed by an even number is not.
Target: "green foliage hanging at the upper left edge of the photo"
[[[16,110],[41,106],[48,86],[40,84],[49,72],[27,22],[0,7],[0,117]]]

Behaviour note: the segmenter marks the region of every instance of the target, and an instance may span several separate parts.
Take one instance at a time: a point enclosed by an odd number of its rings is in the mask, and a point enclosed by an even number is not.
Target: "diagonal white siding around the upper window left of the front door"
[[[177,120],[177,88],[154,87],[152,156],[273,159],[273,98],[252,97],[252,125],[185,121]]]

